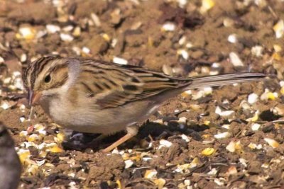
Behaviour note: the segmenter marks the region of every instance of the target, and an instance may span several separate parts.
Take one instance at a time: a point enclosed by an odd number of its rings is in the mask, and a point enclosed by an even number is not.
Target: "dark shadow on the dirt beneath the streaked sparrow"
[[[168,139],[168,137],[176,136],[178,134],[185,134],[188,137],[192,137],[195,140],[201,140],[202,137],[200,132],[207,130],[207,125],[180,125],[177,120],[170,120],[168,125],[163,125],[158,122],[147,121],[141,125],[138,134],[129,139],[129,141],[121,144],[118,149],[146,149],[147,145],[151,140]],[[73,132],[72,135],[78,134]],[[72,149],[82,151],[85,149],[94,149],[99,151],[108,147],[110,144],[116,142],[118,139],[123,137],[125,132],[118,132],[113,135],[105,137],[99,142],[92,144],[92,141],[99,136],[99,134],[82,133],[80,142],[74,142],[73,140],[63,142],[62,146],[64,149]]]

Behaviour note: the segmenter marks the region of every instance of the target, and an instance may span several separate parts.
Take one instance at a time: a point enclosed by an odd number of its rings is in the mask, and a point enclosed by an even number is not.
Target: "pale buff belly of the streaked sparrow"
[[[146,120],[158,109],[158,106],[150,101],[143,101],[141,103],[136,102],[135,106],[129,103],[116,108],[88,110],[86,106],[66,108],[66,106],[57,103],[50,105],[48,111],[45,110],[45,112],[58,125],[71,130],[113,134],[125,130],[128,126],[135,125],[136,122]]]

